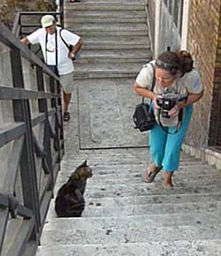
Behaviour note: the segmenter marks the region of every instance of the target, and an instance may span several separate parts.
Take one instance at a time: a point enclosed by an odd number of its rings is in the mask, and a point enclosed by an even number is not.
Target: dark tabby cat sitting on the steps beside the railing
[[[58,217],[80,217],[85,208],[84,191],[87,179],[92,177],[87,160],[72,172],[69,180],[58,190],[55,211]]]

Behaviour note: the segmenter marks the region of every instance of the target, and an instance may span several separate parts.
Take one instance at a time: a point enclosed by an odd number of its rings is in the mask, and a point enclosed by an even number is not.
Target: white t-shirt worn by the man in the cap
[[[61,27],[57,27],[57,69],[59,74],[68,74],[74,70],[74,67],[72,59],[68,58],[69,50],[60,37],[60,29]],[[45,28],[39,28],[32,34],[27,35],[27,40],[32,44],[40,43],[46,64],[56,65],[56,33],[46,35]],[[66,29],[62,29],[61,35],[67,44],[73,46],[80,40],[79,35],[75,35]]]

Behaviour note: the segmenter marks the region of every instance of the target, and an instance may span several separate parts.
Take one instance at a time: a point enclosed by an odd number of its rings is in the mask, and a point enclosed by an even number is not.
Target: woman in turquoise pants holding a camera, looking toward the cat
[[[193,58],[186,50],[164,51],[156,60],[143,66],[133,89],[152,100],[156,125],[149,132],[149,171],[143,173],[145,182],[153,182],[164,170],[164,188],[172,188],[173,172],[179,168],[181,145],[193,112],[193,104],[203,94],[200,75],[193,68]],[[152,81],[156,83],[151,91]],[[181,123],[179,127],[179,123]]]

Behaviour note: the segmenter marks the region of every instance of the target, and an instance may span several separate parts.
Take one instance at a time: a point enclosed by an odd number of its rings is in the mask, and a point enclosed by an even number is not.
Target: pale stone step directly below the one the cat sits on
[[[177,227],[177,226],[194,226],[208,224],[210,226],[220,225],[221,217],[217,213],[165,213],[165,214],[139,214],[123,215],[109,217],[80,217],[80,218],[57,218],[54,216],[47,217],[43,228],[46,230],[61,229],[142,229],[143,227]]]

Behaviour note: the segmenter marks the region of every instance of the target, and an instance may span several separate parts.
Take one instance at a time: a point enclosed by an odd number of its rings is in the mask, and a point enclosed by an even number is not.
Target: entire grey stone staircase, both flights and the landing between
[[[221,255],[221,174],[215,167],[182,152],[173,190],[162,188],[162,173],[151,184],[141,180],[149,163],[149,149],[143,146],[147,135],[131,128],[129,120],[140,100],[132,88],[135,74],[151,58],[145,24],[141,0],[65,4],[65,25],[78,31],[85,45],[75,62],[72,120],[65,123],[65,157],[55,195],[84,159],[94,175],[88,180],[86,209],[80,218],[57,218],[51,200],[37,256]],[[127,99],[122,119],[128,116],[125,133],[134,147],[118,146],[114,134],[118,120],[105,126],[91,112],[87,119],[80,114],[84,108],[93,110],[94,105],[98,111],[108,112],[99,103],[110,100],[112,84],[126,91],[121,94]],[[79,97],[84,88],[89,88],[88,105],[82,105],[84,99]],[[114,111],[118,107],[122,112],[120,101],[111,104]],[[85,129],[92,138],[89,146],[88,137],[86,142],[82,139]],[[95,144],[99,136],[112,139],[110,148],[103,142],[100,147]],[[141,139],[139,146],[136,142]]]

